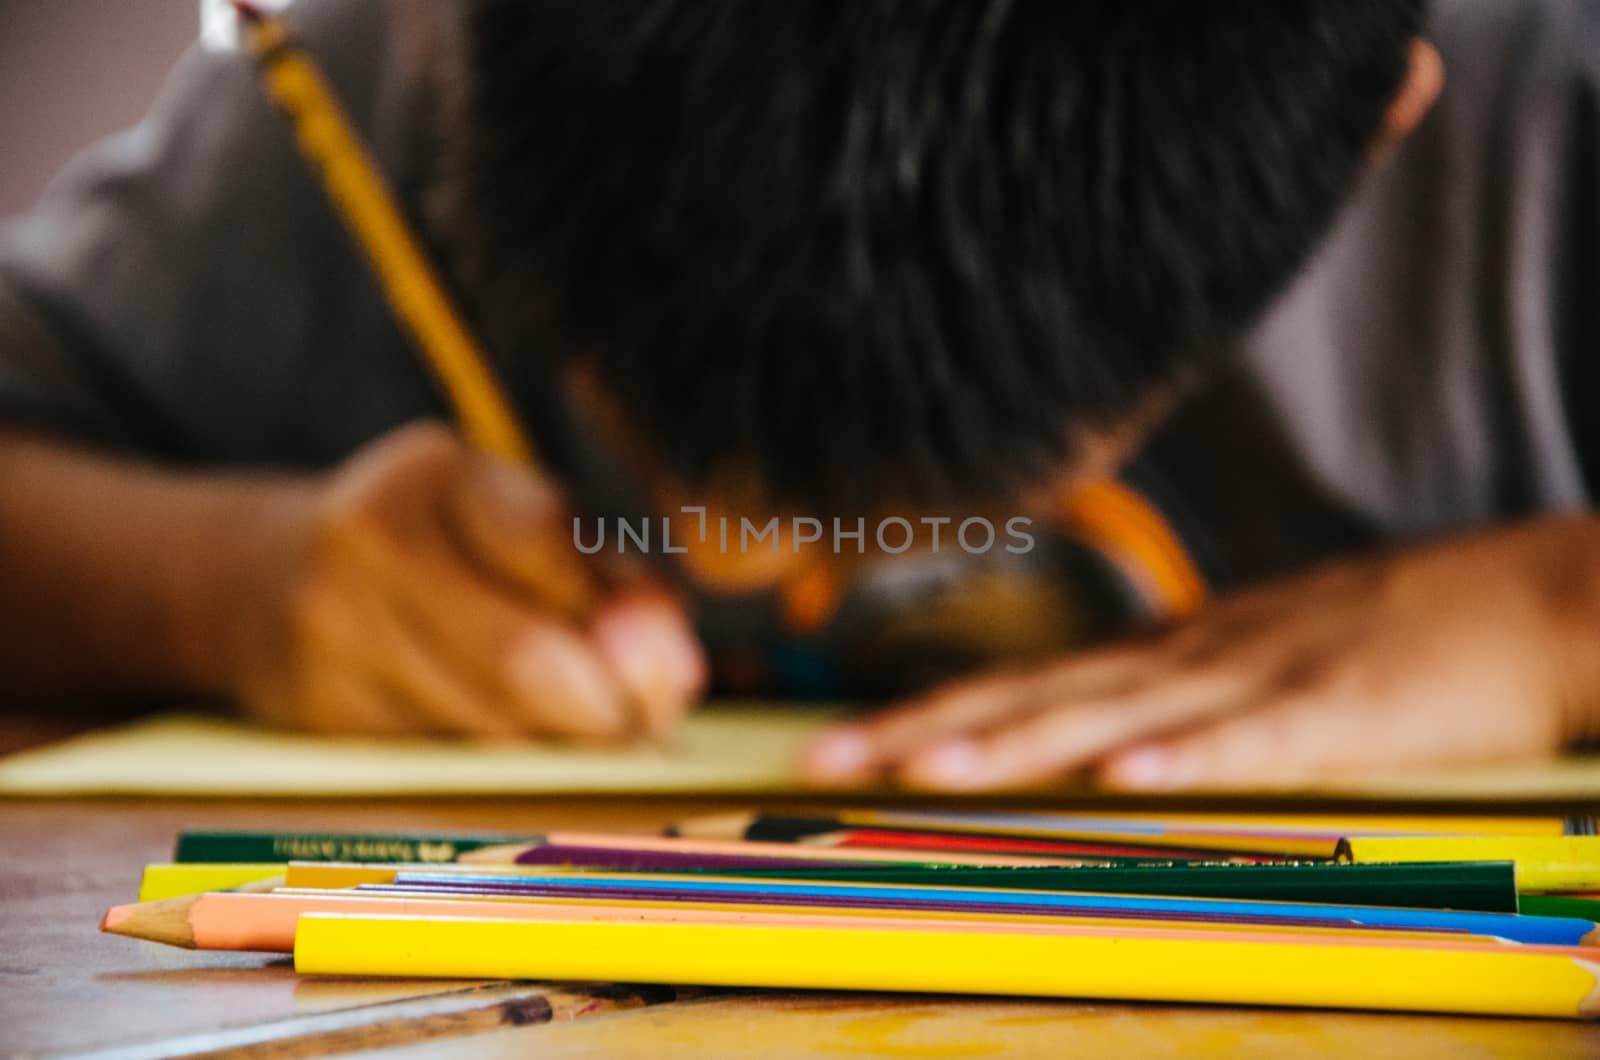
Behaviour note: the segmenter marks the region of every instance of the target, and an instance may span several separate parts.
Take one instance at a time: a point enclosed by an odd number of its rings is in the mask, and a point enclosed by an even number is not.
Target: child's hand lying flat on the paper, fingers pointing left
[[[1600,730],[1600,520],[1368,557],[1171,631],[837,730],[806,772],[979,789],[1290,785],[1544,754]]]

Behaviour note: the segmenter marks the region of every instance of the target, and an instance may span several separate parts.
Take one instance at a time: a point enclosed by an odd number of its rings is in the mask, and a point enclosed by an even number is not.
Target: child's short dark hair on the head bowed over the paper
[[[995,498],[1288,282],[1422,6],[470,0],[477,290],[690,485]]]

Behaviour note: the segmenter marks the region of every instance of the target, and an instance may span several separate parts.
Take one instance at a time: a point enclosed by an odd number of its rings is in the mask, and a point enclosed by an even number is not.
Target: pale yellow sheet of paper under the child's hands
[[[0,794],[794,794],[803,791],[794,777],[798,749],[843,713],[717,705],[696,713],[667,749],[328,740],[168,714],[3,759]],[[1485,804],[1600,801],[1600,756],[1446,772],[1386,770],[1291,794]]]

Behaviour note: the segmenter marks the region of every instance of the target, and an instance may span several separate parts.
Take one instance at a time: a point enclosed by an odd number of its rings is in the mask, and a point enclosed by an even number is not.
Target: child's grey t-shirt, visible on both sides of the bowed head
[[[1438,109],[1176,447],[1166,477],[1222,544],[1286,496],[1413,536],[1597,488],[1600,3],[1435,6]],[[413,211],[427,11],[293,10]],[[317,468],[443,412],[238,53],[195,50],[144,123],[0,227],[0,416],[190,464]],[[1293,538],[1293,562],[1339,548],[1310,509],[1304,532],[1254,535]],[[1243,575],[1270,552],[1224,551]]]

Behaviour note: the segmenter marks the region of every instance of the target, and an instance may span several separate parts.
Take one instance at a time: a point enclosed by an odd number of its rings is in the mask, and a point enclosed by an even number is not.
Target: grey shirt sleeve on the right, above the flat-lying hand
[[[1448,0],[1434,112],[1264,322],[1294,455],[1384,536],[1600,490],[1600,3]]]

